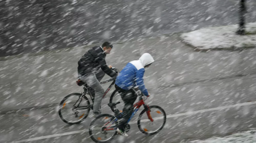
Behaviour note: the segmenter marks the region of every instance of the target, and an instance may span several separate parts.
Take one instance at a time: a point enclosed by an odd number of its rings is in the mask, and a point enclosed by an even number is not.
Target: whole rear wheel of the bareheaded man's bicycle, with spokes
[[[59,116],[63,122],[72,125],[87,118],[90,112],[90,102],[86,96],[81,96],[81,93],[71,93],[62,99],[59,104]]]

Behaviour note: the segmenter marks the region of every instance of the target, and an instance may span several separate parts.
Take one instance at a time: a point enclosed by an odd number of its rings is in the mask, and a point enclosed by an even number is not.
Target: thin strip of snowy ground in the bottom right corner
[[[212,137],[205,140],[193,140],[188,143],[255,143],[256,130],[244,131],[225,137]]]

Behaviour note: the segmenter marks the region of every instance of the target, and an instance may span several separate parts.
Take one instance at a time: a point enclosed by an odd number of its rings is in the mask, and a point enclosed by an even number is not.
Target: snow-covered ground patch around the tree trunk
[[[201,28],[196,31],[181,34],[182,40],[195,47],[196,50],[210,49],[240,49],[256,45],[256,22],[247,23],[246,31],[253,34],[236,35],[238,24]]]

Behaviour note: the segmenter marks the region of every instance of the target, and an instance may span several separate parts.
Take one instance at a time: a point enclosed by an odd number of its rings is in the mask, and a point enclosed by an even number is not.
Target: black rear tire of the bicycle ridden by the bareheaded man
[[[81,93],[70,93],[69,95],[65,96],[65,97],[61,100],[61,102],[60,102],[60,104],[59,104],[59,107],[61,107],[62,104],[63,104],[63,102],[64,102],[68,97],[70,97],[70,96],[72,96],[72,95],[81,96],[82,94],[81,94]],[[86,96],[84,96],[83,98],[86,100],[88,106],[90,106],[89,99],[88,99]],[[59,108],[59,111],[58,111],[58,112],[59,112],[60,119],[61,119],[63,122],[65,122],[65,123],[67,123],[67,124],[70,124],[70,125],[73,125],[73,124],[79,124],[79,123],[81,123],[85,118],[87,118],[88,115],[89,115],[89,113],[90,113],[90,108],[88,108],[87,114],[83,117],[83,119],[82,119],[82,120],[79,120],[79,121],[77,121],[77,122],[70,122],[70,121],[65,120],[65,119],[62,117],[62,115],[61,115],[61,108]]]

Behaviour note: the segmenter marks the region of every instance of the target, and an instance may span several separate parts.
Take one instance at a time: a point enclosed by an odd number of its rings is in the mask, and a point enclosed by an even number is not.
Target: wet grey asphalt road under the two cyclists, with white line
[[[156,136],[146,137],[136,127],[135,116],[130,136],[117,136],[113,142],[179,142],[255,127],[255,49],[200,53],[177,36],[145,38],[115,47],[106,60],[118,69],[144,52],[153,55],[156,62],[145,73],[152,94],[147,103],[163,107],[167,122]],[[75,81],[77,60],[84,50],[1,61],[5,68],[0,71],[4,93],[0,97],[0,142],[93,142],[88,135],[91,117],[70,126],[61,121],[55,105],[68,93],[82,90]],[[111,113],[106,104],[113,89],[103,99],[104,113]],[[53,107],[17,110],[50,104]],[[13,109],[13,113],[6,112]]]

